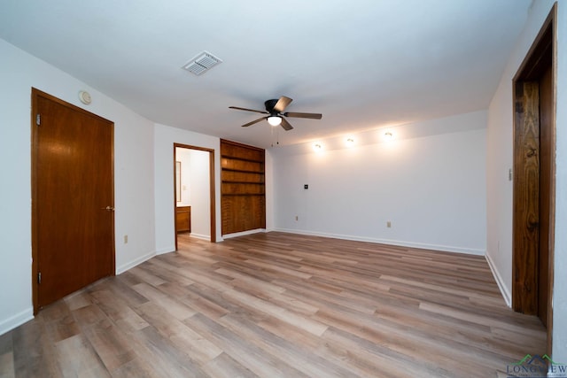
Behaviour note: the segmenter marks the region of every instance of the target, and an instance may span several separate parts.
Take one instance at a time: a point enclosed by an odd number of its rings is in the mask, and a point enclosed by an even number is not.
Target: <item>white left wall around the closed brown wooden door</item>
[[[31,88],[114,122],[117,273],[155,252],[153,124],[74,79],[0,40],[0,334],[31,319]],[[92,95],[89,106],[79,90]],[[122,243],[128,235],[128,244]]]

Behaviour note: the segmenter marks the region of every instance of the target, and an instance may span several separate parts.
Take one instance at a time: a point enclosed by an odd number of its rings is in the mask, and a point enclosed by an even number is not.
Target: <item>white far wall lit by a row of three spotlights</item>
[[[485,124],[473,112],[390,128],[390,142],[271,149],[276,229],[484,254]]]

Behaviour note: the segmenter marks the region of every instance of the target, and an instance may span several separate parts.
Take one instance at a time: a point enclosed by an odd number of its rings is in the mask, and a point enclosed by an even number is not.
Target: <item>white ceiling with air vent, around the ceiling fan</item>
[[[149,120],[268,147],[485,109],[530,4],[0,0],[0,37]],[[181,68],[203,50],[223,63]],[[282,95],[322,120],[271,135],[229,109]]]

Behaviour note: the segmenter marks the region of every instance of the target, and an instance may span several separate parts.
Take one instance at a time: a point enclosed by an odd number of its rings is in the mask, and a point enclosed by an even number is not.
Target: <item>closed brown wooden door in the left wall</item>
[[[33,103],[37,311],[113,274],[113,123],[37,90]]]

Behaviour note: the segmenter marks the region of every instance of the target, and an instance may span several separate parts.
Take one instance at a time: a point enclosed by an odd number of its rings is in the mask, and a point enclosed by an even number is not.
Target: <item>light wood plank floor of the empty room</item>
[[[283,233],[179,246],[0,336],[0,376],[495,377],[545,352],[482,257]]]

